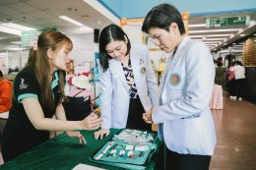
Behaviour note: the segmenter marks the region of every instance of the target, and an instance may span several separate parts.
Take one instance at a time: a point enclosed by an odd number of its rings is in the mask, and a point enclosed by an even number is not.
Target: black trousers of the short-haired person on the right
[[[156,170],[208,170],[211,156],[180,154],[169,150],[164,144],[157,155]]]

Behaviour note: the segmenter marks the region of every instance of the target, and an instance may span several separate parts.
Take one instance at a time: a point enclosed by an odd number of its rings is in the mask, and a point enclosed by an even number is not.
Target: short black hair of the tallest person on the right
[[[142,31],[149,33],[150,28],[163,28],[169,31],[169,25],[176,23],[180,34],[185,33],[185,27],[179,11],[171,4],[160,4],[154,7],[146,16]]]

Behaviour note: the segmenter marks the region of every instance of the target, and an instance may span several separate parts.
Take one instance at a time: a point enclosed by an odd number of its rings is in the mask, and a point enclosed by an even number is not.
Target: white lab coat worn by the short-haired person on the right
[[[215,125],[209,108],[215,65],[208,47],[185,37],[169,57],[160,83],[160,106],[153,110],[160,140],[183,154],[212,155]]]

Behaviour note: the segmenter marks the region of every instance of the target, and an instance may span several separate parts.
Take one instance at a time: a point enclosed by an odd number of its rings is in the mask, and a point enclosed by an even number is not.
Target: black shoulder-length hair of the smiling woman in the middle
[[[108,43],[115,40],[127,42],[126,55],[129,54],[131,50],[130,40],[122,28],[116,25],[109,25],[103,28],[99,34],[99,63],[103,71],[106,71],[108,69],[108,59],[110,59],[110,56],[105,50],[105,47]]]

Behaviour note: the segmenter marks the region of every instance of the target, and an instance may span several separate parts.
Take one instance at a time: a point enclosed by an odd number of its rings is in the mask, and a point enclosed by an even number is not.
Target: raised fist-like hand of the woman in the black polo
[[[101,125],[101,119],[92,112],[88,117],[81,121],[81,126],[84,130],[96,130]]]

